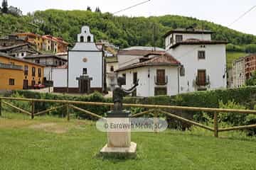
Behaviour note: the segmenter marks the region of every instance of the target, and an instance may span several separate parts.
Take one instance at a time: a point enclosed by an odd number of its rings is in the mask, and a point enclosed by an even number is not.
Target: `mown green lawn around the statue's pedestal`
[[[0,169],[256,169],[256,139],[242,132],[132,133],[137,158],[127,160],[100,157],[106,141],[90,121],[3,113]]]

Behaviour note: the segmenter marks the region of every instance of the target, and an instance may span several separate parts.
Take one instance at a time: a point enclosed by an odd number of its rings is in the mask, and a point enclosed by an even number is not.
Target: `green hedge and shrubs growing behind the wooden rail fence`
[[[94,93],[90,96],[71,96],[60,94],[40,94],[33,91],[12,91],[11,94],[6,96],[24,97],[24,98],[45,98],[56,100],[70,100],[70,101],[90,101],[90,102],[107,102],[112,103],[112,98],[104,98],[100,93]],[[223,89],[213,91],[197,91],[188,94],[179,94],[177,96],[155,96],[155,97],[127,97],[124,98],[124,103],[140,103],[140,104],[154,104],[154,105],[170,105],[170,106],[191,106],[201,108],[247,108],[254,109],[256,105],[256,86],[245,86],[239,89]],[[19,103],[21,101],[15,101],[16,104],[21,105],[22,108],[29,108],[30,106],[23,106],[25,103]],[[36,111],[43,111],[50,107],[58,106],[58,103],[45,103],[36,102]],[[80,108],[84,108],[87,111],[96,113],[98,115],[105,116],[107,111],[110,111],[108,106],[88,106],[88,105],[75,105]],[[126,108],[132,111],[132,113],[139,113],[146,111],[146,108]],[[171,111],[170,111],[171,112]],[[60,108],[58,111],[53,111],[53,115],[65,115],[65,108]],[[77,117],[87,118],[95,120],[90,115],[83,114],[79,111],[75,111]],[[200,111],[183,111],[183,117],[188,119],[194,119],[203,123],[211,123],[213,114],[203,113]],[[193,115],[193,117],[192,117]],[[169,125],[174,120],[169,120]],[[256,118],[252,115],[244,114],[232,114],[222,113],[220,114],[220,121],[229,125],[249,125],[256,123]],[[178,124],[177,124],[178,125]],[[171,125],[176,126],[176,125]],[[179,128],[183,127],[178,125]],[[187,127],[186,127],[187,128]]]

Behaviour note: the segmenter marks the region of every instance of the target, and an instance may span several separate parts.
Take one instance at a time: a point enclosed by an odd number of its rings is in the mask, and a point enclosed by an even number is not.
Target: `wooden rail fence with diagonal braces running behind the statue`
[[[18,108],[17,106],[14,106],[11,103],[7,103],[6,100],[8,100],[8,101],[13,101],[13,100],[14,101],[29,101],[29,102],[31,102],[31,112],[25,111],[22,108]],[[54,108],[49,108],[46,111],[40,111],[38,113],[35,113],[35,110],[36,110],[35,109],[35,103],[36,102],[60,103],[62,105],[55,106]],[[102,116],[97,115],[96,113],[92,113],[90,111],[86,111],[83,108],[79,108],[77,106],[74,106],[74,104],[87,105],[87,106],[110,106],[110,107],[114,106],[114,103],[0,97],[0,116],[1,116],[1,105],[2,104],[5,104],[6,106],[9,106],[11,108],[15,108],[16,110],[20,111],[21,113],[25,113],[26,115],[31,115],[31,119],[33,119],[34,116],[36,116],[36,115],[43,115],[43,114],[46,114],[50,111],[54,111],[58,108],[65,107],[66,111],[67,111],[67,119],[68,120],[70,120],[69,108],[73,108],[77,111],[81,111],[82,113],[85,113],[87,115],[91,115],[91,116],[96,117],[96,118],[102,118]],[[186,107],[186,106],[144,105],[144,104],[132,104],[132,103],[124,103],[123,106],[124,107],[148,108],[149,109],[149,111],[143,111],[141,113],[134,114],[131,117],[138,117],[140,115],[154,115],[155,117],[158,117],[159,114],[164,114],[164,115],[170,116],[171,118],[174,118],[176,120],[180,120],[182,122],[188,123],[190,125],[196,125],[200,128],[210,130],[210,131],[214,132],[215,137],[218,137],[219,132],[256,128],[256,125],[242,125],[242,126],[236,126],[236,127],[230,127],[230,128],[219,128],[218,127],[218,114],[219,113],[256,114],[256,111],[254,111],[254,110],[227,109],[227,108],[196,108],[196,107]],[[175,115],[174,113],[169,113],[167,111],[163,111],[163,109],[168,109],[168,110],[171,110],[171,111],[204,111],[204,112],[214,113],[213,128],[208,126],[208,125],[203,125],[201,123],[197,123],[193,120],[188,120],[186,118],[182,118],[181,116]]]

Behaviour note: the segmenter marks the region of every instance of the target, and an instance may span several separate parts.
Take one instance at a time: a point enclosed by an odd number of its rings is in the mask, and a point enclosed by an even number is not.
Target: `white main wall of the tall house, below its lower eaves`
[[[205,60],[198,60],[198,50],[206,51]],[[210,77],[207,89],[226,88],[225,45],[179,45],[168,52],[185,68],[185,76],[180,77],[181,93],[198,90],[195,84],[198,69],[206,69],[206,75]]]

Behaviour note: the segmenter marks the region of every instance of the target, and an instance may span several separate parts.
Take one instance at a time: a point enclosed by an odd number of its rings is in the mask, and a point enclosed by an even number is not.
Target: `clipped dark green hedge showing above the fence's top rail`
[[[33,91],[12,91],[5,96],[19,94],[25,98],[44,98],[70,101],[95,101],[112,102],[112,98],[104,98],[100,93],[89,96],[72,96],[69,94],[41,94]],[[196,91],[187,94],[178,94],[177,96],[154,96],[154,97],[127,97],[124,103],[158,104],[171,106],[193,106],[205,108],[218,108],[219,101],[227,103],[235,101],[247,108],[253,109],[256,104],[256,86],[245,86],[239,89],[218,89],[213,91]],[[43,106],[44,103],[38,103]],[[96,109],[96,108],[95,108]]]

